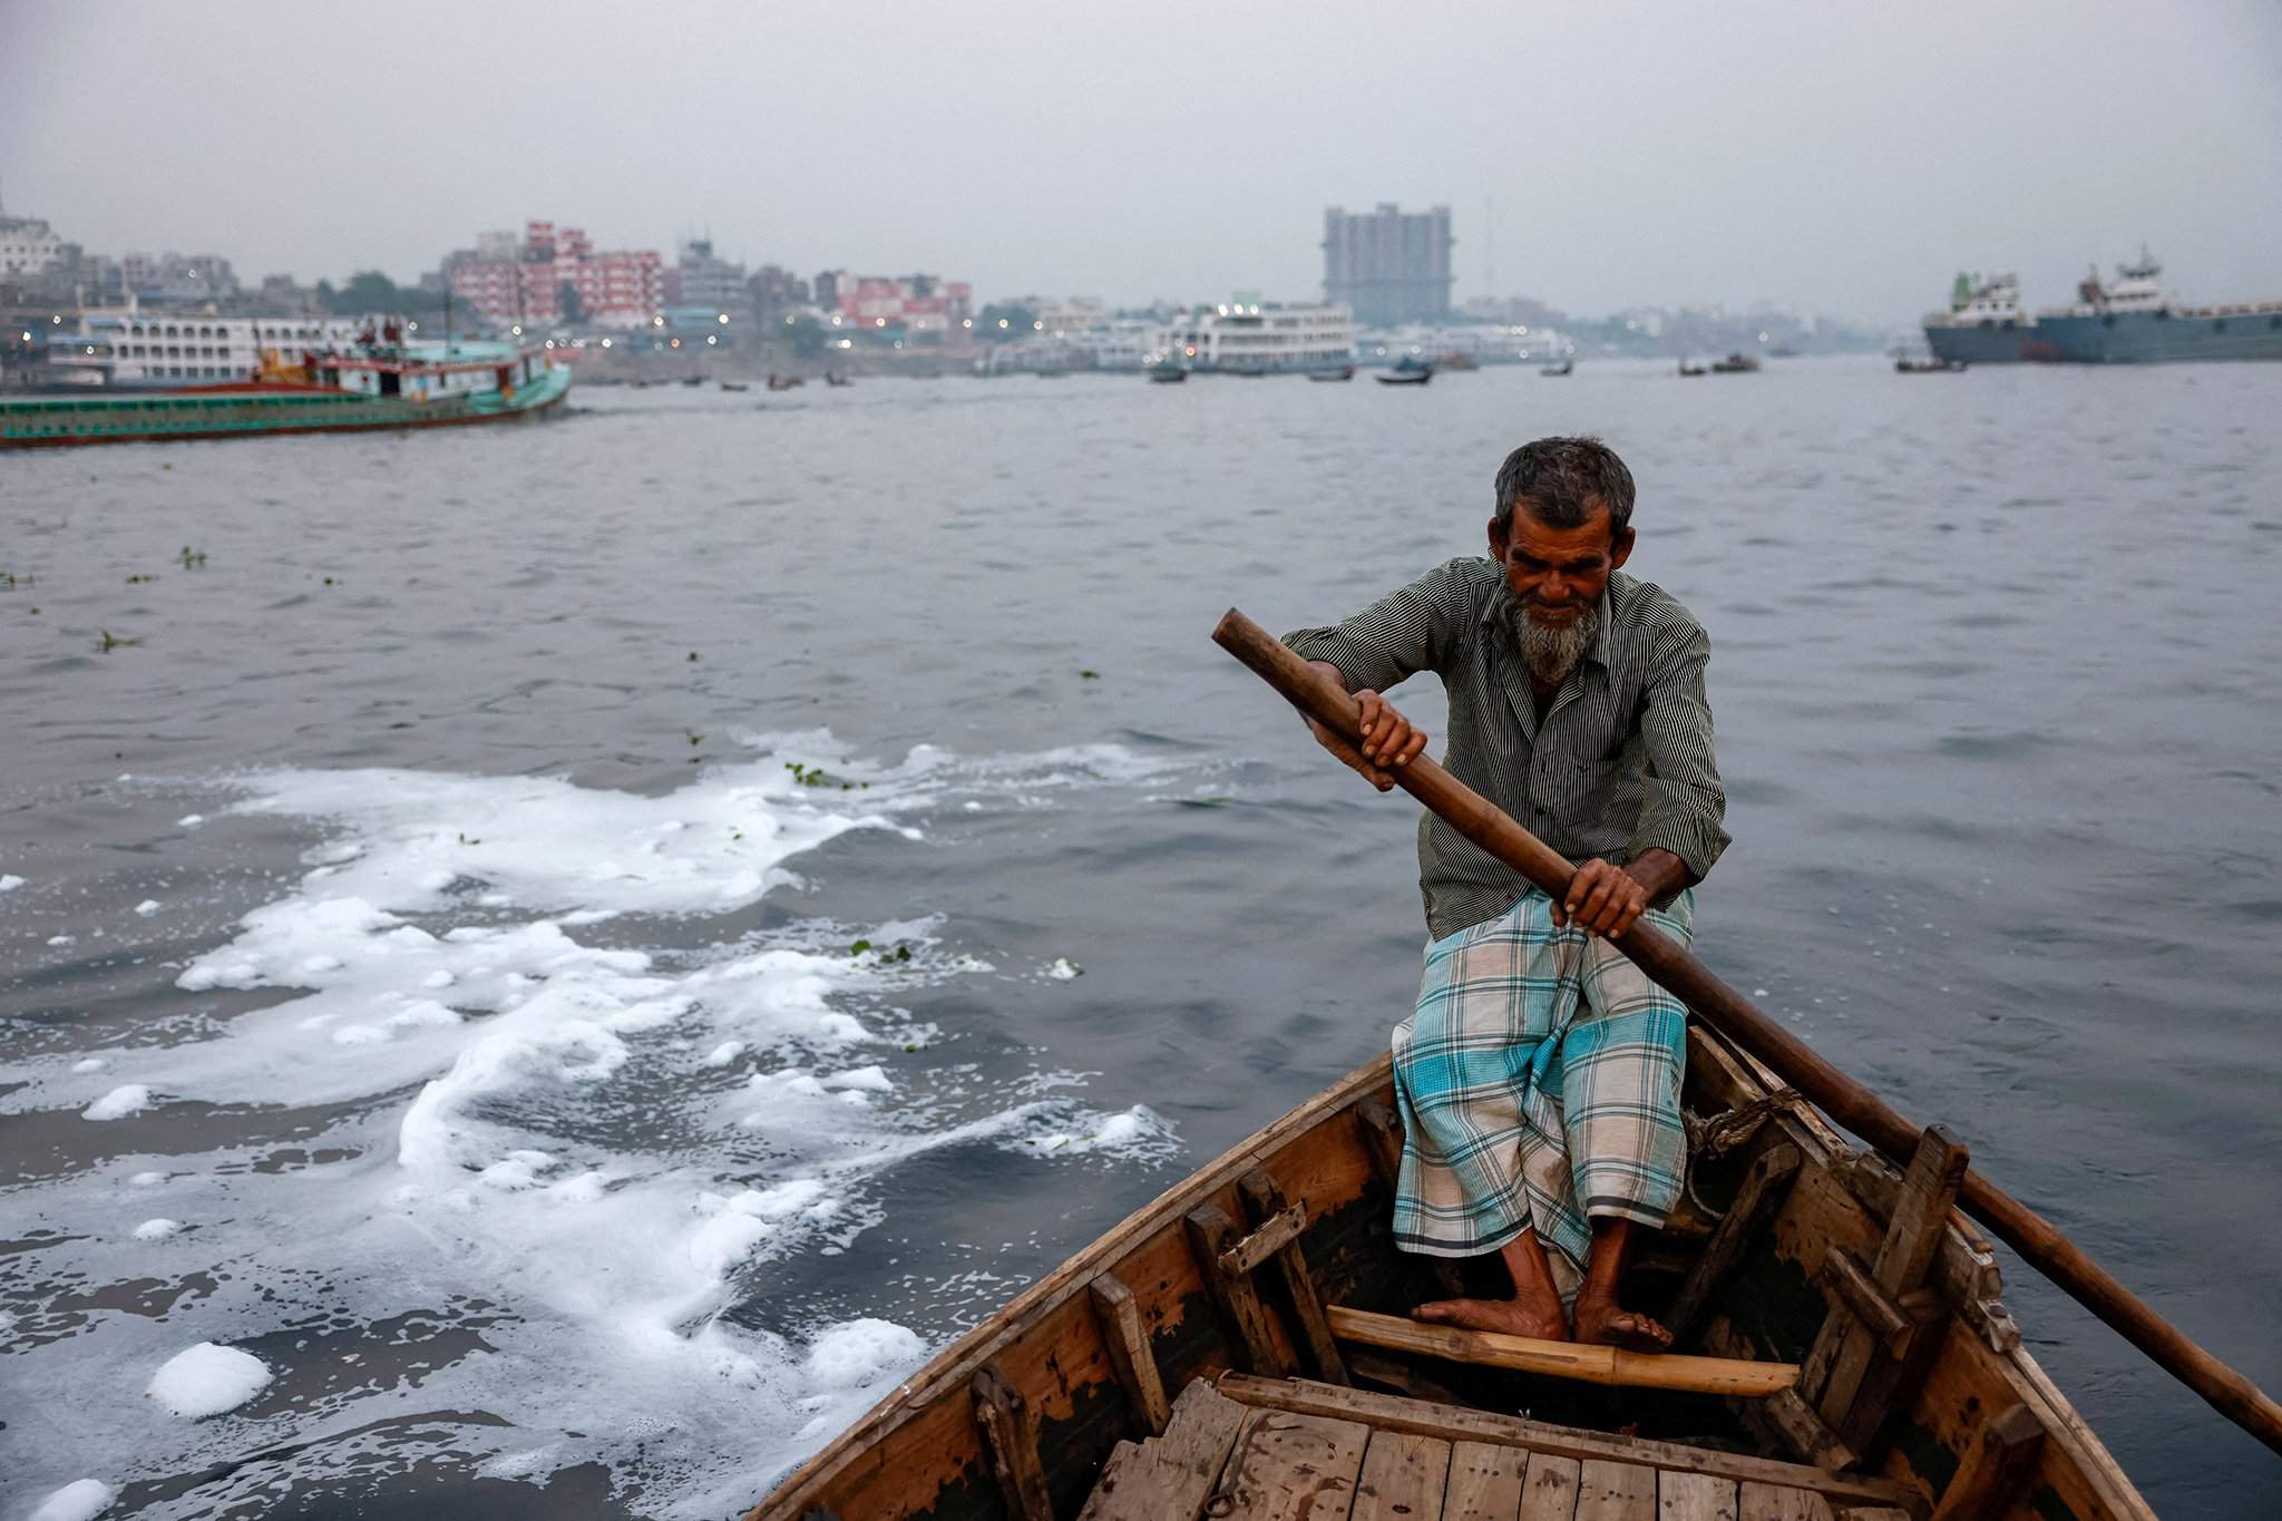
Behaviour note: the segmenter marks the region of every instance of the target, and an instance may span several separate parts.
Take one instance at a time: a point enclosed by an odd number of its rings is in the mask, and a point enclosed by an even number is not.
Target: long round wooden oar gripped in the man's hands
[[[1287,650],[1257,623],[1228,609],[1212,641],[1251,666],[1305,716],[1321,723],[1344,743],[1356,746],[1356,700],[1326,682],[1319,670]],[[1552,896],[1568,892],[1575,867],[1536,835],[1508,819],[1495,803],[1442,771],[1424,755],[1394,771],[1394,780],[1413,798],[1431,807],[1454,830],[1506,862]],[[1696,955],[1652,928],[1645,919],[1616,937],[1616,946],[1641,971],[1675,992],[1696,1015],[1741,1044],[1775,1074],[1812,1099],[1826,1115],[1871,1142],[1889,1158],[1908,1165],[1919,1126],[1894,1113],[1885,1099],[1853,1081],[1814,1047],[1762,1015],[1743,994],[1723,983]],[[2211,1402],[2245,1432],[2282,1453],[2282,1405],[2264,1389],[2211,1357],[2186,1332],[2143,1304],[2129,1288],[2083,1254],[2056,1225],[2004,1193],[1981,1170],[1965,1174],[1958,1204],[2006,1245],[2020,1252],[2038,1272],[2065,1288],[2086,1309],[2106,1320],[2141,1352],[2172,1377]]]

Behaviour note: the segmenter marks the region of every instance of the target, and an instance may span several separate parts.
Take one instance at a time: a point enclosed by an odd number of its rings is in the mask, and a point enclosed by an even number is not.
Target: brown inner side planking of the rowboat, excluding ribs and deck
[[[1691,1195],[1727,1202],[1748,1168],[1771,1149],[1796,1147],[1796,1179],[1771,1220],[1755,1234],[1748,1256],[1723,1288],[1700,1300],[1696,1341],[1723,1357],[1755,1361],[1800,1359],[1835,1300],[1821,1286],[1823,1261],[1844,1250],[1871,1261],[1885,1234],[1880,1211],[1892,1211],[1901,1179],[1883,1163],[1851,1156],[1828,1124],[1796,1099],[1773,1097],[1773,1079],[1732,1044],[1702,1026],[1689,1031],[1686,1101],[1698,1113],[1741,1113],[1762,1106],[1771,1120],[1734,1152],[1693,1165]],[[1006,1498],[1004,1475],[984,1434],[981,1405],[1004,1412],[1011,1391],[1015,1421],[1036,1455],[1036,1485],[1052,1516],[1077,1516],[1120,1441],[1150,1434],[1130,1389],[1134,1345],[1146,1350],[1162,1398],[1180,1396],[1193,1380],[1216,1380],[1253,1359],[1223,1318],[1219,1288],[1207,1282],[1198,1252],[1219,1250],[1214,1213],[1228,1222],[1260,1222],[1260,1193],[1246,1197],[1246,1177],[1264,1174],[1280,1197],[1303,1209],[1296,1236],[1303,1272],[1324,1304],[1401,1316],[1426,1298],[1447,1298],[1429,1259],[1394,1250],[1390,1136],[1394,1099],[1385,1056],[1333,1083],[1253,1138],[1200,1168],[1189,1179],[1134,1211],[1123,1225],[1027,1288],[997,1316],[968,1332],[883,1398],[853,1428],[787,1475],[748,1521],[810,1516],[997,1519],[1025,1514]],[[1885,1204],[1876,1199],[1885,1197]],[[1223,1222],[1225,1225],[1225,1222]],[[1232,1229],[1246,1229],[1235,1225]],[[1700,1243],[1712,1229],[1693,1222]],[[1675,1220],[1666,1241],[1689,1241]],[[1225,1261],[1225,1259],[1223,1259]],[[1495,1261],[1463,1263],[1481,1272],[1472,1293],[1504,1293],[1488,1279]],[[1645,1272],[1643,1263],[1638,1272]],[[1273,1277],[1269,1272],[1267,1277]],[[1994,1302],[2001,1282],[1988,1243],[1951,1215],[1926,1279],[1931,1320],[1924,1373],[1915,1398],[1892,1409],[1867,1448],[1869,1478],[1928,1503],[1958,1482],[1981,1430],[2015,1407],[2042,1432],[2033,1471],[2020,1498],[2001,1510],[2006,1521],[2077,1516],[2152,1521],[2147,1503],[2109,1457],[2083,1418],[2017,1345],[2017,1332]],[[1632,1293],[1632,1288],[1627,1288]],[[1654,1300],[1641,1300],[1654,1307]],[[1253,1373],[1278,1377],[1312,1357],[1298,1318],[1269,1302],[1264,1320],[1246,1336],[1264,1339],[1269,1364]],[[1130,1311],[1130,1318],[1127,1318]],[[1134,1327],[1130,1336],[1111,1325]],[[1362,1355],[1349,1373],[1367,1375]],[[1385,1382],[1376,1373],[1374,1382]],[[1529,1409],[1540,1421],[1572,1428],[1712,1430],[1723,1405],[1712,1396],[1654,1396],[1604,1391],[1538,1375],[1435,1366],[1433,1377],[1465,1382],[1474,1409]],[[1303,1389],[1292,1384],[1292,1389]],[[1579,1393],[1584,1389],[1584,1393]],[[1659,1398],[1684,1405],[1659,1405]],[[1743,1418],[1734,1414],[1732,1418]],[[1004,1439],[1004,1437],[1002,1437]],[[1018,1437],[1020,1439],[1020,1437]],[[1029,1510],[1036,1514],[1036,1507]],[[1340,1512],[1344,1514],[1344,1512]]]

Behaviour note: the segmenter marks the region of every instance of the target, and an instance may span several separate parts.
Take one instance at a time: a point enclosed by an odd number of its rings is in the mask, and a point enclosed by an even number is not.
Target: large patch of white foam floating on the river
[[[123,1156],[23,1190],[68,1236],[41,1254],[43,1270],[210,1282],[167,1316],[103,1313],[23,1352],[50,1398],[9,1432],[39,1455],[16,1482],[178,1475],[256,1446],[299,1453],[146,1512],[215,1514],[294,1473],[388,1466],[390,1439],[367,1428],[402,1416],[399,1393],[413,1391],[420,1409],[511,1421],[452,1430],[479,1473],[536,1485],[602,1462],[639,1487],[644,1514],[751,1505],[926,1355],[922,1334],[892,1320],[771,1313],[776,1263],[844,1250],[879,1225],[879,1186],[938,1149],[1141,1165],[1175,1156],[1178,1140],[1148,1108],[1100,1113],[1061,1092],[1082,1081],[1070,1076],[981,1095],[977,1113],[970,1067],[931,1069],[938,1033],[897,1006],[990,971],[942,944],[933,914],[890,905],[911,917],[719,937],[712,921],[796,882],[796,857],[851,830],[917,839],[929,816],[970,800],[1052,807],[1066,789],[1159,771],[1116,746],[988,759],[920,748],[874,764],[810,732],[666,796],[420,771],[240,778],[242,798],[219,816],[310,821],[329,837],[297,887],[173,974],[171,997],[265,999],[176,1044],[0,1060],[0,1085],[14,1085],[0,1111],[126,1117],[153,1095],[333,1106],[322,1133],[292,1145],[338,1161],[256,1168],[269,1147],[246,1142]],[[876,949],[851,955],[856,940]],[[657,1124],[662,1111],[671,1124]],[[132,1190],[162,1184],[171,1215],[132,1209]],[[176,1234],[176,1218],[199,1229]],[[324,1393],[258,1414],[153,1428],[141,1400],[121,1398],[141,1382],[135,1370],[164,1364],[164,1375],[187,1357],[185,1332],[256,1366],[237,1348],[281,1339],[272,1361],[292,1389],[288,1348],[304,1327],[452,1320],[477,1304],[479,1350],[335,1368]],[[46,1329],[43,1316],[16,1334]],[[185,1412],[233,1409],[258,1384],[230,1368],[235,1384],[201,1352],[153,1393]]]

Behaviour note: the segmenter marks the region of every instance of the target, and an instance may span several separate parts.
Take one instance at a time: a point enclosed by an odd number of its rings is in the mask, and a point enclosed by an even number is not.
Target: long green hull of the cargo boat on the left
[[[0,449],[466,426],[536,417],[568,392],[570,369],[557,365],[511,392],[479,390],[427,401],[294,388],[30,397],[0,401]]]

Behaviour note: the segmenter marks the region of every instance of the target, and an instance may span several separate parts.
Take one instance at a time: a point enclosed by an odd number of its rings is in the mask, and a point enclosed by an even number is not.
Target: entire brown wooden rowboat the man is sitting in
[[[1627,1304],[1675,1355],[1429,1327],[1497,1259],[1399,1252],[1387,1058],[945,1348],[748,1521],[2150,1519],[2020,1345],[1965,1154],[1908,1172],[1702,1024],[1693,1177]],[[1524,1412],[1524,1414],[1513,1414]]]

